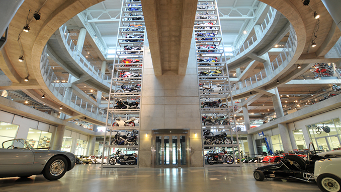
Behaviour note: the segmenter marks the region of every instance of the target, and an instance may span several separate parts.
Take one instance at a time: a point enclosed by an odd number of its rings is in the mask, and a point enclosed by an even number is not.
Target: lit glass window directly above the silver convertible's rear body
[[[50,142],[52,138],[52,133],[44,132],[36,129],[29,129],[27,135],[27,142],[33,148],[48,148],[50,147]]]

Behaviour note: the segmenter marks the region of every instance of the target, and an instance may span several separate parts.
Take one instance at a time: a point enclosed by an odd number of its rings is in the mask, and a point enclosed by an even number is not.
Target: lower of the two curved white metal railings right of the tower
[[[279,72],[281,72],[290,62],[297,48],[297,36],[292,25],[290,26],[290,35],[282,52],[261,72],[232,85],[233,94],[239,94],[253,89],[270,81]]]

